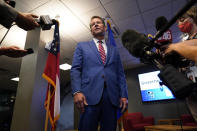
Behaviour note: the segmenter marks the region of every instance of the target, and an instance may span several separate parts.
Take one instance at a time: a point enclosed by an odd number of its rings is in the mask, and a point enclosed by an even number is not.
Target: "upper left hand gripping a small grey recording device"
[[[26,31],[32,30],[40,26],[35,21],[35,18],[38,18],[38,16],[30,13],[18,13],[16,17],[16,24]]]

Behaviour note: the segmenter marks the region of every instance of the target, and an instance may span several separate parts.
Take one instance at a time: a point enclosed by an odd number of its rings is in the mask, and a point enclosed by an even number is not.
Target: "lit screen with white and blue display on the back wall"
[[[138,74],[143,102],[175,99],[167,86],[159,84],[159,73],[160,71],[153,71]]]

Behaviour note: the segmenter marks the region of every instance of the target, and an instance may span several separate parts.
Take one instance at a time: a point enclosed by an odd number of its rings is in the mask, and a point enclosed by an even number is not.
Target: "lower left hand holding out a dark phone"
[[[20,49],[17,46],[1,47],[0,55],[6,55],[8,57],[18,58],[27,55],[27,50]]]

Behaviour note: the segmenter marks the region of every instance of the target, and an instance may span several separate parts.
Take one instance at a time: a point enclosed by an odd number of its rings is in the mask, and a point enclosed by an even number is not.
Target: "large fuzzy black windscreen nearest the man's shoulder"
[[[151,47],[148,38],[135,30],[127,30],[122,35],[123,46],[135,57],[143,57],[146,47]]]

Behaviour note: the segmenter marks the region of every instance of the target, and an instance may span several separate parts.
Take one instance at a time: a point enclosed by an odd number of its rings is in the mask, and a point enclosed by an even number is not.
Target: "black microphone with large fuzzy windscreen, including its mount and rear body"
[[[159,66],[158,64],[171,64],[175,68],[184,68],[190,64],[190,60],[177,52],[164,55],[169,42],[156,43],[135,30],[125,31],[122,35],[122,43],[133,56],[140,58],[140,61],[145,64],[153,63],[157,66]]]

